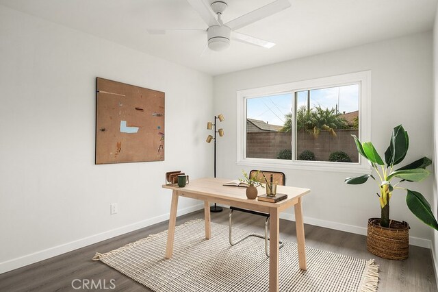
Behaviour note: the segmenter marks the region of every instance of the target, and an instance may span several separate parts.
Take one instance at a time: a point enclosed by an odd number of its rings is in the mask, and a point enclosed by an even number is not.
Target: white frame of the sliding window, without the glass
[[[295,145],[292,145],[292,160],[246,158],[246,99],[251,97],[263,97],[280,93],[292,93],[302,90],[313,90],[342,86],[346,84],[359,84],[359,140],[371,140],[371,71],[361,71],[330,77],[322,77],[313,80],[276,84],[259,88],[250,88],[237,91],[237,165],[274,168],[274,169],[302,169],[318,171],[357,172],[370,171],[368,161],[359,155],[359,162],[329,162],[329,161],[304,161],[295,160]],[[292,112],[295,112],[294,102]],[[295,123],[292,123],[292,131],[295,134]],[[296,138],[292,139],[296,143]]]

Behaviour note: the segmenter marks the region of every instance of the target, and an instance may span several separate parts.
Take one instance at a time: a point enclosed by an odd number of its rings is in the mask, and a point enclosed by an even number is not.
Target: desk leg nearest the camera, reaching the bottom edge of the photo
[[[270,209],[269,292],[279,291],[279,209]]]

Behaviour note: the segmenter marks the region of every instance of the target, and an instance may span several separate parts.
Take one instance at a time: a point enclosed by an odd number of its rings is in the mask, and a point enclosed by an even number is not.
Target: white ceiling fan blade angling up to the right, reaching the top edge
[[[289,7],[290,7],[290,3],[288,0],[276,0],[272,3],[269,3],[268,5],[264,5],[261,8],[258,8],[240,17],[237,17],[237,19],[233,19],[232,21],[225,23],[225,25],[227,25],[227,27],[231,28],[232,30],[240,29],[240,27],[244,27],[246,25],[249,25],[250,23],[255,23],[260,19],[264,19],[265,17],[271,16],[272,14],[276,14],[277,12],[280,12],[281,10],[285,10],[286,8]]]

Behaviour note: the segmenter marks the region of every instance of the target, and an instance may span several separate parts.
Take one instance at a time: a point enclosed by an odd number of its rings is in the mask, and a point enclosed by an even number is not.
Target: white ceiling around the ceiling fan
[[[273,0],[226,0],[224,23]],[[219,75],[395,38],[433,27],[438,0],[289,0],[292,6],[237,32],[276,43],[263,49],[231,41],[205,50],[207,29],[186,0],[0,0],[1,5],[60,23],[184,66]]]

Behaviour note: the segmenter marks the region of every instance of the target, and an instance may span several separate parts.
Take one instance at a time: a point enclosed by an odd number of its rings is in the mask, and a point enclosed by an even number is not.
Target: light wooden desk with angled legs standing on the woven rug
[[[270,213],[270,241],[269,241],[269,291],[279,291],[279,215],[283,210],[295,207],[296,239],[298,243],[298,260],[300,269],[306,270],[305,235],[302,223],[301,200],[309,193],[308,188],[292,186],[277,186],[278,193],[287,193],[287,199],[272,204],[259,202],[257,199],[247,199],[246,188],[236,186],[222,186],[230,180],[222,178],[201,178],[191,180],[183,188],[163,185],[163,188],[172,190],[172,206],[170,207],[169,230],[167,238],[166,258],[172,257],[175,224],[177,221],[178,197],[190,197],[204,201],[205,239],[210,239],[210,203],[216,202],[238,208]],[[261,188],[257,188],[259,193]]]

